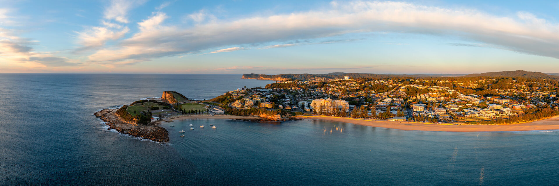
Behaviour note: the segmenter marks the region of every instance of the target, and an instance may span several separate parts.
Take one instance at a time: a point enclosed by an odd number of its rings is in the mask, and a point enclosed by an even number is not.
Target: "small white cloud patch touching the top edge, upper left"
[[[112,0],[110,6],[105,9],[105,18],[121,23],[128,23],[128,11],[135,6],[144,4],[145,0]]]

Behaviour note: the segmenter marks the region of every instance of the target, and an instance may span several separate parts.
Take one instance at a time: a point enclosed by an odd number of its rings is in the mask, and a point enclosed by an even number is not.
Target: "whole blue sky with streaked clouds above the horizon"
[[[559,1],[0,0],[0,73],[559,73]]]

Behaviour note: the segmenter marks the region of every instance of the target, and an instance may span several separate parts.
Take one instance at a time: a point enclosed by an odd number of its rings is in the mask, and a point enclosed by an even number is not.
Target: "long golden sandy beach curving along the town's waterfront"
[[[407,121],[378,121],[359,118],[333,116],[296,116],[297,118],[339,121],[356,125],[395,128],[408,131],[447,131],[447,132],[495,132],[495,131],[533,131],[559,130],[559,116],[529,123],[510,125],[453,125],[448,123],[419,123]]]

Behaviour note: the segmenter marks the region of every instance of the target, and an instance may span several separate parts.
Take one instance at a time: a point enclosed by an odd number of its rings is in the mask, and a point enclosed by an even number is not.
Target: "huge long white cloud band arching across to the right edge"
[[[147,61],[153,58],[198,53],[231,45],[264,48],[302,44],[352,33],[410,33],[461,37],[487,46],[559,59],[559,25],[528,12],[512,17],[475,9],[421,6],[406,2],[337,2],[330,8],[229,20],[207,18],[205,11],[187,17],[191,26],[164,25],[168,17],[155,13],[139,23],[139,32],[112,47],[89,55],[97,63]],[[317,41],[309,44],[319,43]]]

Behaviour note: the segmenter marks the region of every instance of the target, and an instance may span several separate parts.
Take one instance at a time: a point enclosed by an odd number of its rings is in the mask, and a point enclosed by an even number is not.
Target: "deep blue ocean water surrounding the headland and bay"
[[[559,184],[559,131],[198,119],[163,123],[170,141],[162,145],[108,131],[92,115],[164,90],[208,99],[267,83],[240,75],[0,74],[0,185]]]

